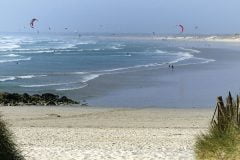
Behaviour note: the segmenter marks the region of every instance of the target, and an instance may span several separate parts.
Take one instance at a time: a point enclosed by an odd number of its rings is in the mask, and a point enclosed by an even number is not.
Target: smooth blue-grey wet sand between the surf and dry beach
[[[194,48],[195,49],[195,48]],[[239,51],[217,48],[196,48],[196,57],[215,62],[107,74],[88,82],[88,86],[72,93],[89,105],[112,107],[210,107],[215,98],[229,91],[238,93],[237,59]],[[226,75],[226,76],[225,76]]]

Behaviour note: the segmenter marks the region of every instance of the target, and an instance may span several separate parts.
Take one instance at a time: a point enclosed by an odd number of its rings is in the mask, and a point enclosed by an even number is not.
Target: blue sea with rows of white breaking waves
[[[197,49],[209,43],[133,37],[1,34],[1,91],[69,95],[104,75],[215,61]]]

